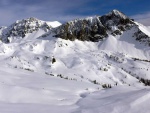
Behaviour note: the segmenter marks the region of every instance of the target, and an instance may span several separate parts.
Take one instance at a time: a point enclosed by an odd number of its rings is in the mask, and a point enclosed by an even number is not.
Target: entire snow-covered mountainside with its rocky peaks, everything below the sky
[[[150,28],[118,10],[64,24],[18,20],[0,39],[3,113],[149,112]]]

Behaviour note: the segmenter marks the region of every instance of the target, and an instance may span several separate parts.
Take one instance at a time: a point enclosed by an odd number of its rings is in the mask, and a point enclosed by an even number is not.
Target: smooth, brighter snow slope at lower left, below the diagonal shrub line
[[[82,93],[99,86],[39,73],[0,68],[1,113],[71,113]]]

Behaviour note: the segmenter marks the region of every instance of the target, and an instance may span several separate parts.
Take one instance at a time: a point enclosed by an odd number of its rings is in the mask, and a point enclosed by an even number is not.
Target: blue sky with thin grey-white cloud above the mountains
[[[0,26],[28,17],[61,23],[118,9],[150,25],[149,0],[0,0]]]

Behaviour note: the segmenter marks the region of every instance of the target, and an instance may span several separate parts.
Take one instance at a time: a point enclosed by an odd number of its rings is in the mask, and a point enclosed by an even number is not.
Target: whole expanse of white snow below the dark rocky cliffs
[[[0,112],[148,113],[150,90],[138,78],[150,79],[150,47],[136,30],[88,42],[42,38],[39,29],[1,42]]]

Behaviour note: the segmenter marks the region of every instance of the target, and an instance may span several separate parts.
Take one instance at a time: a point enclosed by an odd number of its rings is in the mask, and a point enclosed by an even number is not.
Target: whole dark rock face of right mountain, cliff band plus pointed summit
[[[123,31],[134,25],[133,20],[123,13],[113,10],[104,16],[76,19],[54,29],[56,37],[68,40],[99,41],[106,38],[109,33],[121,35]]]

